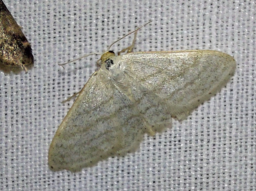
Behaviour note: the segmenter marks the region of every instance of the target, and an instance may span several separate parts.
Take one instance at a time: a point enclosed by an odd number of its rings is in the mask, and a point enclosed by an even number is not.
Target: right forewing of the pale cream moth
[[[179,120],[220,91],[236,70],[232,56],[211,50],[135,52],[124,54],[122,60]]]

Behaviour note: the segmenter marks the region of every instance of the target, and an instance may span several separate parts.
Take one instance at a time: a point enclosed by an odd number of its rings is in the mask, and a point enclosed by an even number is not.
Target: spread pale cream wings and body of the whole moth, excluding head
[[[217,51],[139,52],[113,56],[82,89],[49,149],[51,170],[80,171],[134,152],[145,133],[185,119],[226,85],[233,57]],[[110,63],[110,62],[108,62]],[[106,69],[108,68],[108,69]]]

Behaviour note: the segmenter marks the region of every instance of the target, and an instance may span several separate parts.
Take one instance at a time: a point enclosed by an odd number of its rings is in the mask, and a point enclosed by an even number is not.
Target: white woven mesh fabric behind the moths
[[[256,190],[256,4],[254,1],[4,0],[31,43],[35,65],[0,72],[0,190]],[[218,50],[234,77],[186,120],[136,153],[80,173],[48,169],[51,140],[113,41],[148,21],[135,52]],[[113,46],[118,52],[133,35]],[[142,74],[143,75],[143,74]]]

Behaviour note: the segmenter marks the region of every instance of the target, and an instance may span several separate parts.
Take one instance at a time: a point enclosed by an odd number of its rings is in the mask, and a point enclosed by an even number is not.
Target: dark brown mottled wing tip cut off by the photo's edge
[[[27,72],[34,64],[30,43],[13,16],[0,0],[0,70]]]

